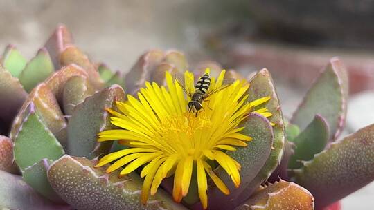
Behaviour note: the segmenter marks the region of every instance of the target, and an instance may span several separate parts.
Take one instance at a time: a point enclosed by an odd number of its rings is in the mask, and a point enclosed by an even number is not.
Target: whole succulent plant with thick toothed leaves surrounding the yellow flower
[[[128,110],[141,109],[134,104],[148,103],[143,95],[152,90],[151,86],[156,95],[163,94],[157,96],[159,99],[168,98],[168,91],[177,94],[181,87],[170,76],[189,68],[183,53],[150,50],[123,77],[119,72],[112,73],[105,64],[93,64],[73,45],[64,26],[58,27],[44,48],[28,62],[14,46],[8,46],[0,66],[0,207],[314,209],[315,202],[317,209],[323,209],[374,180],[374,126],[336,141],[344,126],[348,87],[344,66],[339,59],[332,59],[290,122],[283,120],[269,71],[260,70],[249,81],[237,82],[236,85],[247,87],[240,89],[244,90],[240,94],[245,94],[238,95],[242,99],[236,99],[242,102],[238,107],[256,104],[256,110],[245,113],[238,125],[240,129],[235,129],[237,134],[231,135],[232,139],[250,141],[231,140],[235,142],[232,146],[222,144],[216,150],[221,152],[220,157],[231,157],[235,169],[214,156],[204,160],[206,172],[199,172],[197,168],[203,166],[195,165],[198,161],[193,160],[193,166],[184,165],[190,169],[190,182],[182,183],[183,196],[173,193],[175,172],[166,174],[168,178],[156,184],[161,185],[157,191],[150,189],[152,196],[148,200],[142,199],[142,186],[152,182],[148,174],[157,172],[151,172],[149,166],[143,179],[144,170],[130,170],[130,164],[124,168],[127,173],[112,170],[116,158],[105,157],[127,153],[132,145],[121,138],[112,144],[110,132],[123,128],[116,117],[130,117]],[[198,78],[206,68],[210,68],[212,79],[224,75],[220,64],[212,61],[191,69]],[[227,71],[224,77],[244,78],[235,70]],[[180,104],[185,100],[184,96],[179,99],[170,102]],[[166,106],[156,101],[154,106]],[[220,107],[226,102],[222,104]],[[149,105],[145,109],[148,107],[148,111],[157,113]],[[202,119],[201,116],[194,115],[193,121]],[[108,132],[109,137],[103,135]],[[103,160],[106,162],[100,164]],[[228,170],[231,172],[227,173]],[[240,184],[232,182],[235,170],[240,171]],[[183,176],[188,179],[188,175]],[[206,187],[201,183],[207,183]],[[222,193],[223,186],[229,195]],[[173,195],[181,203],[175,202]],[[201,203],[204,196],[206,200]],[[142,204],[141,200],[146,202]]]

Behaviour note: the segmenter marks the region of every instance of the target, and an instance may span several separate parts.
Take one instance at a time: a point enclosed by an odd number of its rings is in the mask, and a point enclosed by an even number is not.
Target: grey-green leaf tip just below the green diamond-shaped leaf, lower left
[[[22,173],[22,178],[30,187],[33,187],[35,191],[45,198],[55,203],[66,204],[57,193],[53,191],[51,184],[48,182],[46,171],[52,162],[52,160],[43,159],[32,166],[28,166]]]

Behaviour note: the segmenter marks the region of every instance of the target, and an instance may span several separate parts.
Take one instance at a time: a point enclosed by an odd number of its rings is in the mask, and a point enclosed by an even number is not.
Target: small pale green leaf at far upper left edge
[[[3,67],[6,68],[12,77],[19,77],[21,71],[24,70],[27,60],[15,48],[15,46],[8,45],[3,53]]]

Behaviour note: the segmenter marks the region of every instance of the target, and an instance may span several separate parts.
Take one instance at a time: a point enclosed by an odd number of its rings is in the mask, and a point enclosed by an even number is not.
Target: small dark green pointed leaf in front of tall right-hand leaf
[[[299,169],[301,161],[312,160],[314,154],[325,149],[329,137],[328,124],[323,117],[316,115],[314,120],[292,141],[294,154],[288,162],[289,169]]]

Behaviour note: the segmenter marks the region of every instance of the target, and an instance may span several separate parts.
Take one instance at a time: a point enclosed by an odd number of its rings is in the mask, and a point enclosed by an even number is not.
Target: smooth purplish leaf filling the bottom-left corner
[[[43,198],[21,176],[0,171],[0,209],[72,210]]]

